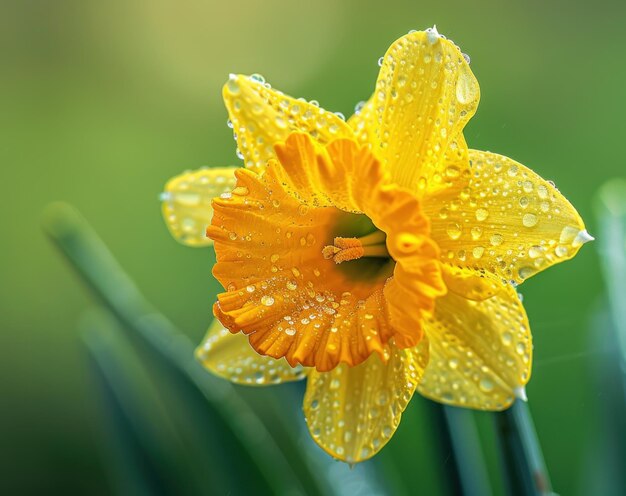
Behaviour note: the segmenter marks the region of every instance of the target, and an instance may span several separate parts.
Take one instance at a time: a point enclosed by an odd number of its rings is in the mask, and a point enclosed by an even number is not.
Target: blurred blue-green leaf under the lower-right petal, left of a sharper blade
[[[473,412],[465,408],[429,403],[439,428],[442,451],[444,454],[452,454],[453,460],[447,460],[444,464],[452,493],[466,496],[493,494]]]

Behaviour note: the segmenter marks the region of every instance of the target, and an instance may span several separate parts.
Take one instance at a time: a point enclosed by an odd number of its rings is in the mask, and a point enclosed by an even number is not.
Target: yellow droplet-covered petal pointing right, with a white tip
[[[443,261],[520,283],[592,239],[565,197],[527,167],[476,150],[470,159],[469,177],[423,201]]]

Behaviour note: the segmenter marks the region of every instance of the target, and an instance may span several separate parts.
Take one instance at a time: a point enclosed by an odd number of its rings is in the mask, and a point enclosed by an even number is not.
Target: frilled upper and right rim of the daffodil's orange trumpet
[[[316,151],[306,135],[292,135],[276,146],[282,164],[280,181],[302,201],[364,212],[387,233],[387,248],[396,262],[384,296],[400,348],[422,337],[423,313],[446,292],[437,246],[428,239],[428,220],[414,194],[389,184],[376,159],[353,140],[336,140]],[[410,308],[410,311],[407,311]]]

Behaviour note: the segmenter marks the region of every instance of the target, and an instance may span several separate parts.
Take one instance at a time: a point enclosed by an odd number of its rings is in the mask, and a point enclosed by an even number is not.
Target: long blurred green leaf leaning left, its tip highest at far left
[[[275,493],[290,493],[296,488],[308,494],[324,493],[322,478],[309,477],[307,482],[310,484],[307,483],[304,490],[294,473],[294,466],[302,463],[302,457],[297,456],[297,452],[286,456],[285,446],[275,442],[265,424],[232,385],[213,378],[194,360],[194,346],[190,340],[145,300],[102,240],[73,207],[64,203],[50,205],[43,226],[112,313],[202,391],[224,423],[231,427],[232,434],[246,446]],[[288,443],[285,445],[290,447]],[[303,470],[299,472],[303,476]]]

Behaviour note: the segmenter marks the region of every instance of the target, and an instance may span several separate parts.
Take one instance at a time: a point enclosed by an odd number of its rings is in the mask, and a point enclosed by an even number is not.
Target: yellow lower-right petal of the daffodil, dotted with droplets
[[[419,392],[441,403],[502,410],[530,379],[532,344],[517,293],[472,301],[448,293],[425,323],[430,362]]]

